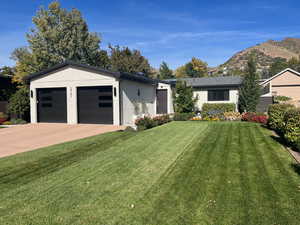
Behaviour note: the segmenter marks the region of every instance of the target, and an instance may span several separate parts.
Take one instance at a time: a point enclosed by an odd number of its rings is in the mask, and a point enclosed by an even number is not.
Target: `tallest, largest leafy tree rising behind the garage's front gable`
[[[101,39],[90,33],[77,9],[67,11],[57,1],[41,8],[33,17],[35,27],[26,35],[28,47],[18,48],[15,81],[65,60],[107,68],[107,52],[100,50]]]

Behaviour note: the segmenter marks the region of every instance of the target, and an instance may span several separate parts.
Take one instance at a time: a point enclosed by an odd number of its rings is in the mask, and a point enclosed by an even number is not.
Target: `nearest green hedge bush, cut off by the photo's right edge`
[[[300,143],[300,109],[290,109],[284,115],[284,138],[295,147]],[[300,149],[299,149],[300,150]]]

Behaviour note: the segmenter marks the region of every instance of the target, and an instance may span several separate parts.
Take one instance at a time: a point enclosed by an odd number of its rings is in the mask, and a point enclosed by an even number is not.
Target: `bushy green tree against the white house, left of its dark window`
[[[185,81],[178,81],[175,94],[175,111],[177,113],[189,113],[195,110],[197,98],[193,97],[193,88],[187,86]]]

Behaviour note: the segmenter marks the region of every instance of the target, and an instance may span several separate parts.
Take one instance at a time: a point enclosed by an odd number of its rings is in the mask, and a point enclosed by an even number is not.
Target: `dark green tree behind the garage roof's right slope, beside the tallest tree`
[[[148,60],[138,50],[130,50],[128,47],[109,45],[111,70],[127,73],[143,73],[150,76],[152,68]]]

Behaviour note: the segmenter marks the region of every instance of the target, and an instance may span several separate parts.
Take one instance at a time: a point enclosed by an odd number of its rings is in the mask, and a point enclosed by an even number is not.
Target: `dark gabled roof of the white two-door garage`
[[[61,69],[61,68],[67,67],[67,66],[78,68],[78,69],[86,69],[86,70],[90,70],[90,71],[93,71],[96,73],[107,74],[107,75],[113,76],[117,79],[132,80],[132,81],[148,83],[148,84],[157,84],[158,82],[161,82],[159,80],[154,80],[149,77],[145,77],[143,75],[124,73],[124,72],[112,72],[109,70],[101,69],[99,67],[84,65],[84,64],[77,63],[77,62],[73,62],[73,61],[65,61],[61,64],[57,64],[48,69],[42,70],[41,72],[30,74],[29,76],[27,76],[25,78],[25,81],[30,82],[32,79],[38,78],[40,76],[46,75],[48,73],[51,73],[53,71],[56,71],[58,69]]]

